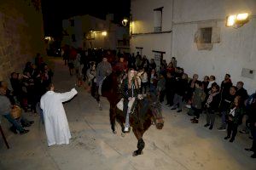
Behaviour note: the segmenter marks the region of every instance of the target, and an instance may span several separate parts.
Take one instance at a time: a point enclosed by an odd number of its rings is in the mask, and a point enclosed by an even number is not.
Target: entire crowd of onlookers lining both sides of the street
[[[215,127],[216,116],[220,116],[218,130],[227,131],[224,139],[230,139],[230,143],[236,139],[237,129],[245,116],[246,126],[240,133],[250,134],[253,146],[246,150],[253,151],[252,157],[256,157],[256,92],[248,95],[243,82],[236,82],[234,86],[230,74],[226,74],[218,85],[213,75],[205,76],[203,80],[199,80],[197,74],[189,78],[183,68],[177,66],[174,57],[169,64],[162,59],[157,69],[154,59],[149,61],[139,53],[116,54],[110,50],[82,51],[66,47],[61,49],[61,56],[64,64],[68,65],[70,76],[76,75],[79,86],[86,82],[88,87],[96,88],[90,90],[96,99],[101,94],[104,77],[112,72],[129,72],[121,86],[126,90],[123,92],[127,98],[124,102],[125,112],[128,101],[135,95],[133,89],[137,89],[136,94],[153,92],[159,94],[161,103],[166,101],[164,105],[170,106],[170,110],[177,110],[179,113],[186,106],[187,114],[193,116],[191,123],[198,123],[200,116],[205,113],[207,123],[204,127],[210,130]],[[22,117],[12,118],[9,107],[20,105],[24,111],[38,112],[38,102],[53,77],[53,72],[40,54],[37,54],[33,63],[27,62],[22,74],[13,72],[10,75],[13,91],[9,90],[7,82],[1,82],[0,111],[12,123],[10,129],[14,133],[17,133],[16,130],[20,133],[28,132],[24,127],[30,126],[32,122]],[[139,83],[133,80],[134,75],[139,75]]]

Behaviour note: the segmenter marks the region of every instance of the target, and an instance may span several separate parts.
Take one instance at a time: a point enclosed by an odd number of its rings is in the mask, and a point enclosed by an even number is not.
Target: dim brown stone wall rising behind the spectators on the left
[[[22,72],[37,53],[45,54],[38,4],[39,0],[0,1],[0,81],[9,80],[12,71]]]

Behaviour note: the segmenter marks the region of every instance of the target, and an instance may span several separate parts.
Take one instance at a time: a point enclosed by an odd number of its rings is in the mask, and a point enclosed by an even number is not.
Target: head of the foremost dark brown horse
[[[153,121],[154,121],[155,127],[157,129],[162,129],[164,127],[164,118],[162,116],[161,103],[159,99],[152,94],[150,94],[150,100],[151,100],[150,110],[153,114]]]

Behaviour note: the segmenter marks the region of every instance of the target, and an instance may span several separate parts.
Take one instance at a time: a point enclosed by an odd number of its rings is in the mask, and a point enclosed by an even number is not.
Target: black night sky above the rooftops
[[[115,22],[130,14],[130,0],[42,0],[45,36],[61,36],[61,20],[78,14],[91,14],[104,19],[112,13]]]

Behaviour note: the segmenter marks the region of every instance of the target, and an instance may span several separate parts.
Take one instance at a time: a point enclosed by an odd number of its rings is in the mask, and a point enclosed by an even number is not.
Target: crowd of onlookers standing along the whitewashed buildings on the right
[[[193,116],[190,119],[191,123],[198,123],[201,114],[205,113],[207,123],[204,127],[210,130],[216,126],[216,116],[221,117],[221,124],[217,125],[218,130],[227,131],[224,139],[230,139],[230,143],[236,139],[237,129],[242,126],[243,118],[246,118],[246,125],[240,133],[250,134],[249,138],[253,139],[253,146],[246,150],[254,151],[252,157],[256,157],[256,92],[249,96],[247,90],[243,88],[243,82],[236,82],[235,86],[230,74],[225,75],[220,85],[213,75],[205,76],[203,80],[199,80],[197,74],[189,78],[183,68],[177,66],[177,60],[174,57],[168,65],[163,59],[159,70],[156,70],[154,59],[149,61],[145,55],[141,56],[139,53],[136,56],[135,54],[113,54],[112,57],[110,53],[106,53],[101,57],[102,62],[96,60],[88,62],[89,66],[86,67],[84,75],[88,78],[89,85],[96,80],[97,86],[101,86],[102,77],[108,76],[112,71],[130,72],[131,75],[128,74],[126,78],[128,82],[132,82],[129,77],[133,77],[132,74],[135,71],[141,79],[139,94],[146,94],[148,91],[157,93],[161,103],[166,100],[166,106],[170,106],[170,110],[177,110],[177,112],[182,112],[186,106],[187,114]],[[112,65],[112,70],[109,69],[109,65]],[[137,83],[127,81],[127,87],[131,88],[132,84],[135,88],[137,87]],[[126,94],[131,94],[130,88],[126,89]],[[124,102],[126,107],[130,99],[131,95],[128,95]],[[124,110],[127,111],[127,108],[124,107]]]

